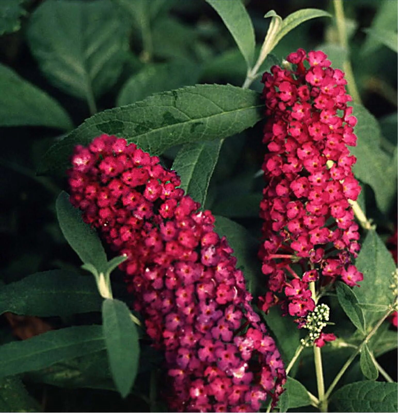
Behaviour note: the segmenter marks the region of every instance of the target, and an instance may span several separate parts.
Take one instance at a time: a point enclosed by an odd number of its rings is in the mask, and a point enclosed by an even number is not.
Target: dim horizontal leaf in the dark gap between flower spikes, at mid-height
[[[260,192],[222,198],[211,210],[213,214],[232,218],[257,218],[261,199],[263,199],[263,194]]]

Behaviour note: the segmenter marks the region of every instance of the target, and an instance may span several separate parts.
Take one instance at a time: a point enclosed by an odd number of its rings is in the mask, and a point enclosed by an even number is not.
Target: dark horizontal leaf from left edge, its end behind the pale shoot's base
[[[101,302],[92,277],[65,270],[28,275],[0,288],[0,314],[64,317],[99,311]]]

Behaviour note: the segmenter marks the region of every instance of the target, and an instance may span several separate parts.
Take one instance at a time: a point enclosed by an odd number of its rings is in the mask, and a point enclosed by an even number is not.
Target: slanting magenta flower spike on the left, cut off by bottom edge
[[[286,380],[280,354],[253,311],[242,271],[210,211],[184,195],[158,157],[101,135],[76,146],[71,202],[128,259],[134,309],[166,354],[172,411],[258,411]]]

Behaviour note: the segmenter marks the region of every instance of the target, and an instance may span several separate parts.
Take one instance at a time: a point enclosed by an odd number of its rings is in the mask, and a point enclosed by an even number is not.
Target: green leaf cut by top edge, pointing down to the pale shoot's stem
[[[251,67],[254,58],[253,24],[241,0],[206,0],[223,20],[239,47],[247,67]]]

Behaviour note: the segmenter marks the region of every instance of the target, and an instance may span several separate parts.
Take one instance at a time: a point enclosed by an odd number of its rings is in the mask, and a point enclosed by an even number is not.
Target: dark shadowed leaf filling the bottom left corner
[[[0,411],[2,412],[40,412],[38,402],[26,391],[18,377],[0,380]]]

